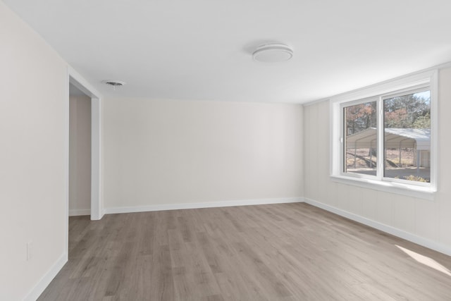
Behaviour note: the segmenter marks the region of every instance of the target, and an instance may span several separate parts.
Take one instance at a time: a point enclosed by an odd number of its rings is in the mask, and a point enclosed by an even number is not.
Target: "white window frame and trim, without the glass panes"
[[[428,87],[431,91],[431,182],[421,183],[383,177],[383,99]],[[376,101],[378,111],[378,160],[376,176],[344,172],[343,108],[354,104]],[[340,94],[330,99],[330,178],[338,183],[356,185],[373,190],[433,200],[437,191],[438,174],[438,70],[428,70],[388,80],[377,85]]]

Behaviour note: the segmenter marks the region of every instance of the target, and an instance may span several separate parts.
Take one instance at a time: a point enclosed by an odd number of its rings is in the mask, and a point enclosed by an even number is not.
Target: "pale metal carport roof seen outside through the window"
[[[377,130],[367,128],[346,137],[346,148],[376,147]],[[385,128],[385,148],[412,147],[431,150],[431,130],[426,128]]]

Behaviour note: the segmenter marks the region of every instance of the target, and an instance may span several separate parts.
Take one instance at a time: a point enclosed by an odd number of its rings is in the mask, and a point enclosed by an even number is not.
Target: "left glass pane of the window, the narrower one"
[[[345,173],[376,176],[377,115],[376,102],[344,108]]]

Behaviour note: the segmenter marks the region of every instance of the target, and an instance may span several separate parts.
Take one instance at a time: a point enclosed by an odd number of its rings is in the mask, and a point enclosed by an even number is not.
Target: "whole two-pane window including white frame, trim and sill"
[[[334,180],[432,198],[436,76],[418,73],[331,99]]]

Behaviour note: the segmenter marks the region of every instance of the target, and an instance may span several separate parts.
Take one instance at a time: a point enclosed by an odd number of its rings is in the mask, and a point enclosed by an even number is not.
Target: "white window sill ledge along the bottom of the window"
[[[369,188],[372,190],[395,193],[397,195],[407,195],[408,197],[428,199],[430,201],[433,201],[436,192],[435,188],[432,187],[422,187],[417,185],[394,183],[381,180],[370,180],[366,178],[333,175],[330,176],[330,179],[335,183],[354,185],[362,188]]]

